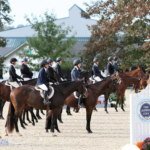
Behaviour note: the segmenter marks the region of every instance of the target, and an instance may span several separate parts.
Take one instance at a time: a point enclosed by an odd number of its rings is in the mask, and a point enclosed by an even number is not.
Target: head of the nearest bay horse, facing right
[[[77,81],[80,82],[80,85],[78,86],[77,88],[77,92],[80,93],[80,94],[83,94],[83,96],[86,98],[88,97],[88,91],[87,91],[87,88],[85,87],[85,84],[84,84],[84,78],[82,79],[78,79]]]

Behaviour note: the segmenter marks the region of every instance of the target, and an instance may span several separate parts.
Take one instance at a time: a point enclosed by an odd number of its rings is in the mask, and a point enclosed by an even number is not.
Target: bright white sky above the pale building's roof
[[[16,27],[19,24],[26,25],[25,15],[29,17],[31,14],[39,16],[44,14],[46,10],[54,12],[56,17],[68,17],[68,10],[77,4],[83,10],[86,9],[84,2],[90,4],[93,0],[9,0],[12,9],[11,15],[14,16],[14,22],[10,26]]]

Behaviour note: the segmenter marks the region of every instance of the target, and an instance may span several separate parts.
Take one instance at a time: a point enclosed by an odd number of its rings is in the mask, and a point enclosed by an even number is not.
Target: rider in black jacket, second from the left
[[[22,63],[21,68],[20,68],[21,74],[22,74],[25,81],[30,80],[33,76],[33,73],[30,71],[29,67],[27,66],[28,59],[23,58],[22,62],[23,63]]]

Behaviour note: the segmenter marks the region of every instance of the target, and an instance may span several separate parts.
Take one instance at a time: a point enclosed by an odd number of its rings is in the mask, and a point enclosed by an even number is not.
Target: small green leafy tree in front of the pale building
[[[66,38],[69,32],[72,31],[72,27],[62,29],[64,24],[56,25],[55,15],[44,13],[44,16],[40,16],[40,20],[33,16],[32,20],[27,18],[27,21],[31,25],[31,28],[36,31],[36,34],[30,38],[27,38],[29,48],[33,51],[28,57],[38,60],[52,58],[56,60],[57,57],[62,57],[64,65],[68,63],[68,59],[75,56],[70,49],[77,42],[73,33],[72,37]],[[66,61],[66,62],[65,62]],[[39,70],[38,64],[31,64],[35,70]]]

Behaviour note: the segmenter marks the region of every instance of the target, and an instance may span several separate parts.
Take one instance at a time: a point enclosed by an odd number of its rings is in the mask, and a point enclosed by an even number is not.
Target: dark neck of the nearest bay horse
[[[71,95],[71,93],[73,93],[79,85],[80,85],[80,82],[72,82],[70,83],[70,85],[66,86],[65,91],[63,89],[63,93],[65,97],[67,98],[69,95]]]

